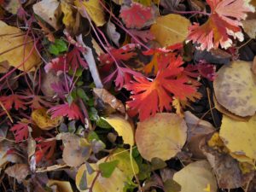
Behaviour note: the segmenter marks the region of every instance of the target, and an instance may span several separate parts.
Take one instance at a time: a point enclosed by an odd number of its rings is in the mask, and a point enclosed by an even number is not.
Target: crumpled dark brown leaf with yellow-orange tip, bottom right
[[[224,146],[218,133],[205,137],[201,141],[201,150],[207,156],[220,188],[239,188],[253,178],[252,165],[235,160],[229,154],[229,149]],[[242,165],[251,166],[251,169],[248,170],[249,172],[242,172]]]

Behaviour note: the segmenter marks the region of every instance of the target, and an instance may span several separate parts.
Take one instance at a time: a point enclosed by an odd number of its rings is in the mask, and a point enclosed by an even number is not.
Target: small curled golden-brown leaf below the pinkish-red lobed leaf
[[[61,117],[54,119],[50,118],[50,115],[47,114],[46,108],[38,108],[32,112],[32,120],[38,127],[42,130],[51,130],[56,126],[60,125]]]

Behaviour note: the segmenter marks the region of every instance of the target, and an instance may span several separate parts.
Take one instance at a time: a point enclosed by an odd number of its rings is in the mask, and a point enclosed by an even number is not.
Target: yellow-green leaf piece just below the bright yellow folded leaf
[[[108,161],[119,160],[117,167],[120,171],[124,172],[127,177],[133,177],[133,171],[131,166],[130,154],[125,148],[117,148],[113,151],[113,154],[109,156]],[[139,172],[137,162],[132,158],[135,174]]]

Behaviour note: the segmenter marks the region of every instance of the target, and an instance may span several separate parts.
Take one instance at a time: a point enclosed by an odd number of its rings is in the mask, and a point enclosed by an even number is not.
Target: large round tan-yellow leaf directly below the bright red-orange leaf
[[[135,134],[137,149],[145,160],[169,160],[181,151],[187,138],[187,125],[175,113],[156,113],[139,122]]]

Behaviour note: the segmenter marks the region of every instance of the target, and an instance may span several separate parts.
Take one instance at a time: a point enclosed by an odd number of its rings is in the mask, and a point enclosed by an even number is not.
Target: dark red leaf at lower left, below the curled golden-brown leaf
[[[43,159],[43,157],[46,160],[49,160],[55,152],[55,146],[56,146],[55,140],[44,141],[44,138],[42,137],[38,137],[35,140],[38,142],[36,146],[36,153],[35,153],[36,162],[38,163],[40,160]]]

